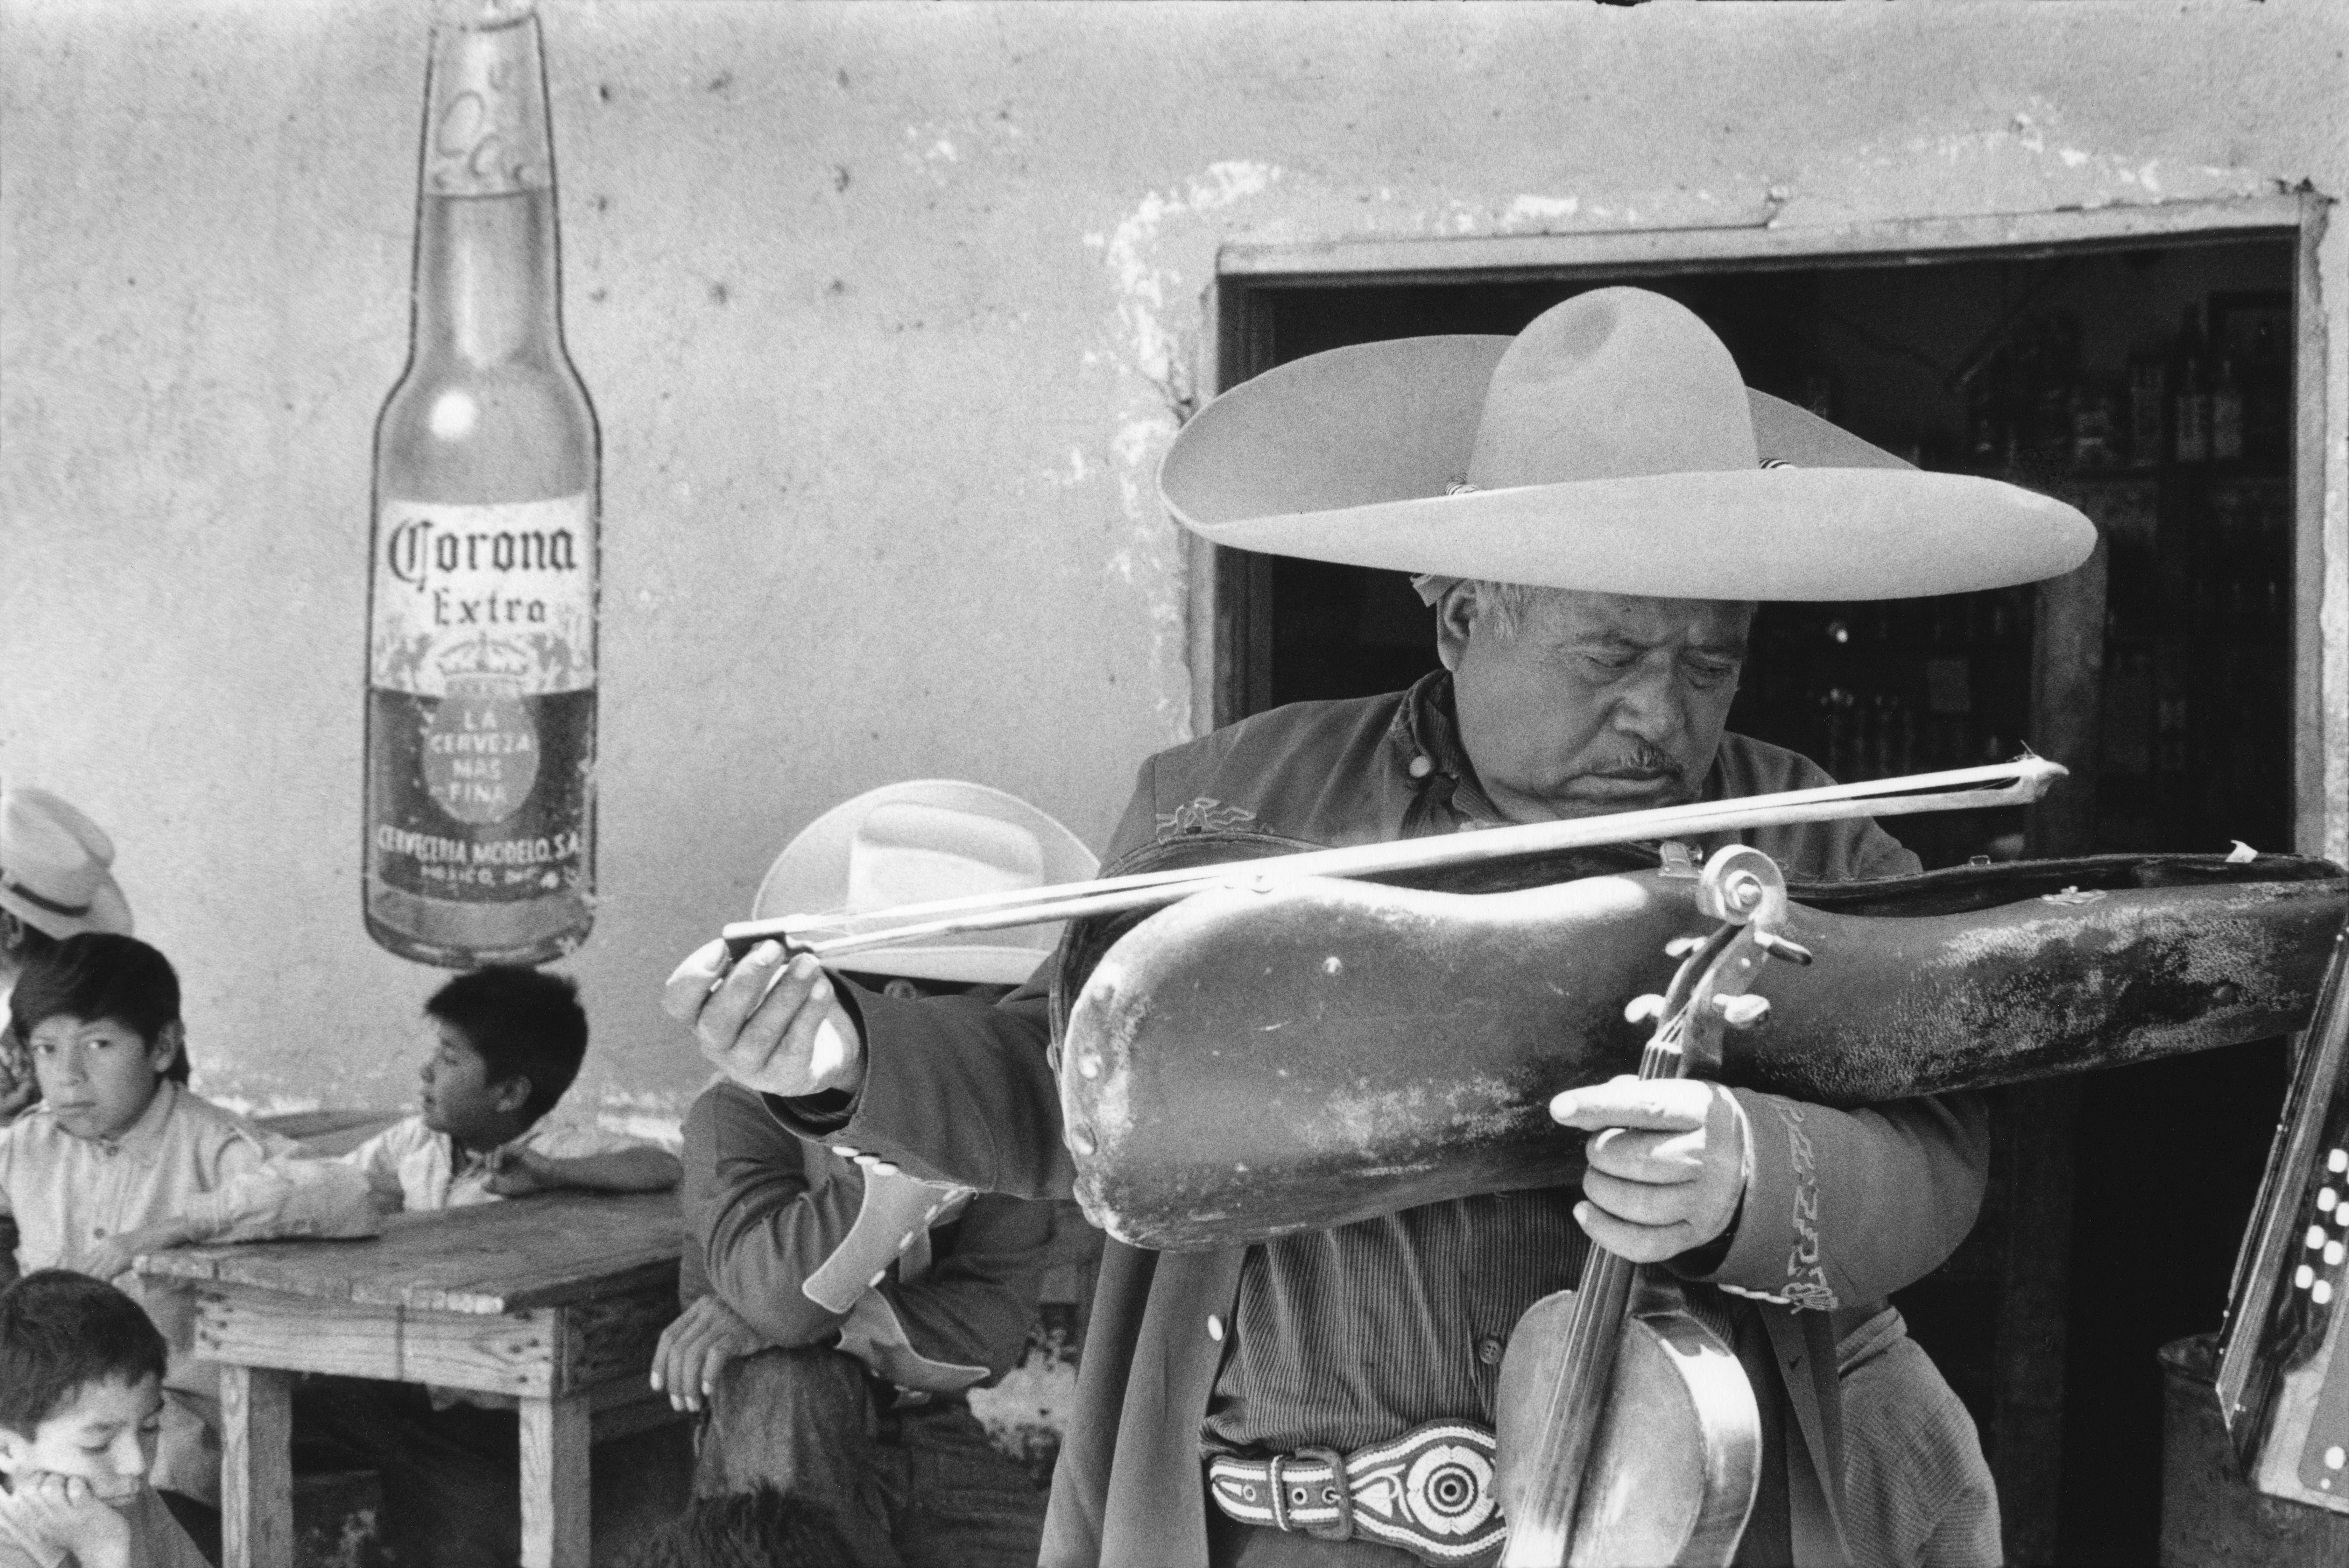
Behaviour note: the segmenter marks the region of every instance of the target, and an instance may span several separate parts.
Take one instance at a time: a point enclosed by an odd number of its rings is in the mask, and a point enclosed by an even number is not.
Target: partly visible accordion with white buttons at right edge
[[[2349,1514],[2349,932],[2236,1263],[2217,1397],[2253,1486]]]

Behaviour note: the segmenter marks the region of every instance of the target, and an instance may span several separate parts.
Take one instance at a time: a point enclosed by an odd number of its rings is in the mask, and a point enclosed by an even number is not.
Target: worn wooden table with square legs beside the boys
[[[291,1568],[294,1373],[510,1397],[521,1415],[524,1568],[587,1568],[587,1448],[669,1413],[646,1387],[677,1317],[677,1197],[545,1192],[397,1214],[369,1242],[181,1246],[139,1272],[190,1282],[221,1364],[221,1545]]]

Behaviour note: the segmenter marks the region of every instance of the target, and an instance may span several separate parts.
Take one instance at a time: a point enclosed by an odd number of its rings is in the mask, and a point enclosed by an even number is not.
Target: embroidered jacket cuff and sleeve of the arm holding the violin
[[[1719,1263],[1691,1277],[1849,1307],[1933,1272],[1973,1230],[1990,1174],[1980,1094],[1863,1110],[1731,1094],[1745,1113],[1745,1199]]]

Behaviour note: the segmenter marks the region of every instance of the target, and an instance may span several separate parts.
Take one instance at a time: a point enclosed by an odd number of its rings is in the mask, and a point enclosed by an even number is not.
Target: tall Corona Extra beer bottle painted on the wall
[[[538,16],[444,0],[369,566],[364,908],[404,958],[540,962],[587,937],[597,491]]]

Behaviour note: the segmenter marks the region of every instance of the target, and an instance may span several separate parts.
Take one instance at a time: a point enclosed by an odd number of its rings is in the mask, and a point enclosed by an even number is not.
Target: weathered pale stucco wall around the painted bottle
[[[1151,467],[1221,242],[2349,188],[2321,2],[545,14],[606,446],[601,913],[566,967],[608,1115],[702,1080],[658,984],[813,812],[961,775],[1099,845],[1186,732]],[[359,927],[359,681],[425,7],[0,23],[0,775],[120,838],[200,1087],[399,1103],[439,972]]]

